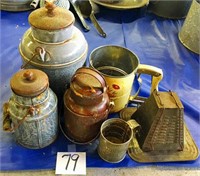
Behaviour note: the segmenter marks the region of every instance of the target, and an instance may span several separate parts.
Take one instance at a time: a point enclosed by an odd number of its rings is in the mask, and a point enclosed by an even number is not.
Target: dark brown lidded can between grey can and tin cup
[[[63,131],[67,138],[79,144],[94,140],[111,107],[103,76],[92,68],[78,69],[64,95]]]

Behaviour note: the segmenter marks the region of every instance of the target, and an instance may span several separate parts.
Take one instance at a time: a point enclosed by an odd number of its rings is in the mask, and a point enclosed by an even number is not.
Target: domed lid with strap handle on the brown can
[[[106,90],[106,83],[102,75],[91,68],[79,68],[72,77],[70,87],[76,95],[81,97],[95,97]]]

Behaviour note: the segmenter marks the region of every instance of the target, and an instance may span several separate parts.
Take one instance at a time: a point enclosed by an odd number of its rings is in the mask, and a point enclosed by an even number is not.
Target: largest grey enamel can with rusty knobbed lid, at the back
[[[47,2],[29,15],[31,28],[19,45],[25,68],[44,71],[58,97],[63,96],[72,75],[87,57],[87,41],[74,20],[72,12]]]

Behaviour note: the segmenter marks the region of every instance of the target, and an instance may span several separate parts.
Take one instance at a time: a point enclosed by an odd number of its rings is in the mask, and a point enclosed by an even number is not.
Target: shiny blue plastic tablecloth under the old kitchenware
[[[3,103],[8,101],[11,95],[9,80],[14,73],[20,70],[22,65],[18,46],[24,32],[30,28],[28,23],[30,12],[1,11],[1,112]],[[102,38],[89,19],[86,19],[86,22],[91,29],[89,32],[84,32],[76,15],[75,17],[74,25],[84,34],[89,44],[86,65],[88,65],[89,54],[96,47],[119,45],[134,52],[139,57],[140,63],[153,65],[163,70],[164,77],[159,84],[159,90],[172,90],[178,94],[184,105],[184,120],[199,148],[199,55],[186,49],[178,40],[178,32],[184,19],[159,18],[146,11],[145,8],[118,11],[101,7],[96,18],[107,33],[107,37]],[[148,97],[151,80],[148,76],[143,76],[142,79],[139,95]],[[16,144],[12,134],[0,130],[0,170],[55,169],[56,153],[67,151],[86,152],[87,167],[200,167],[199,158],[195,161],[185,162],[138,163],[127,155],[120,163],[106,163],[96,152],[98,140],[89,146],[79,146],[69,142],[61,132],[57,140],[50,146],[44,149],[30,150]]]

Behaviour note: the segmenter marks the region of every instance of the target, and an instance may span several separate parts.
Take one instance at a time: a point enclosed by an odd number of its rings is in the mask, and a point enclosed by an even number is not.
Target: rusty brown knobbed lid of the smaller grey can
[[[10,80],[10,86],[17,95],[34,97],[47,89],[49,80],[43,71],[25,69],[13,75]]]

